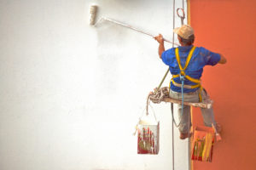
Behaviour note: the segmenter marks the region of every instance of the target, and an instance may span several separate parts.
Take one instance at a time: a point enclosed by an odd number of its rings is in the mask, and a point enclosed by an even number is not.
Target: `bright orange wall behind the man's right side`
[[[214,100],[223,141],[212,163],[194,161],[194,170],[256,169],[256,1],[190,0],[195,45],[224,54],[226,65],[207,66],[203,87]],[[194,125],[202,124],[193,110]]]

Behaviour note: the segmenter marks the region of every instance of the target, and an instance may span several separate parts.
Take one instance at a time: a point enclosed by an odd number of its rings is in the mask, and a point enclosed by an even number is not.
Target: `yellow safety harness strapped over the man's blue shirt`
[[[176,56],[176,59],[177,59],[177,64],[179,66],[179,70],[180,70],[180,74],[177,74],[177,75],[172,75],[172,79],[171,79],[171,82],[174,86],[176,87],[179,87],[179,88],[182,88],[182,94],[183,94],[183,88],[200,88],[200,93],[199,93],[199,101],[201,102],[201,91],[202,91],[202,87],[201,87],[201,80],[200,79],[195,79],[193,77],[189,77],[189,75],[186,75],[185,71],[189,65],[189,61],[190,59],[192,58],[192,55],[195,51],[195,46],[193,46],[190,51],[189,51],[189,56],[186,60],[186,63],[184,65],[184,67],[180,64],[180,57],[179,57],[179,54],[178,54],[178,48],[175,48],[175,56]],[[177,83],[175,82],[173,79],[174,78],[177,78],[177,77],[180,77],[180,80],[182,81],[182,84],[180,83]],[[187,79],[189,80],[190,82],[194,82],[195,85],[186,85],[184,84],[184,79]],[[170,82],[170,87],[171,88],[171,82]]]

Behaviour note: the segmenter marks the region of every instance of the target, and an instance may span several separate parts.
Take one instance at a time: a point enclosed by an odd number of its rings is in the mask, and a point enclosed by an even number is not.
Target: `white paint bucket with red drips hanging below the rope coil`
[[[160,122],[155,116],[145,115],[137,124],[137,154],[157,155],[159,152]]]

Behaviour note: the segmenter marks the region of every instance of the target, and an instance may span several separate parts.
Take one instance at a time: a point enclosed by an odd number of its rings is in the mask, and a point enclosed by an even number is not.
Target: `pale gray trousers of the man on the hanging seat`
[[[200,93],[200,89],[198,89],[195,92],[183,94],[184,101],[199,102],[199,96],[198,96],[199,93]],[[174,92],[171,89],[170,89],[169,95],[170,95],[170,98],[172,98],[172,99],[182,100],[182,94]],[[201,97],[202,97],[203,101],[210,99],[209,96],[207,95],[207,91],[205,89],[202,90]],[[189,124],[191,126],[191,121],[189,122],[190,106],[183,105],[183,114],[182,114],[182,105],[177,105],[177,112],[178,112],[178,118],[180,121],[180,126],[178,127],[180,133],[188,133],[189,129],[190,129]],[[211,109],[201,108],[201,115],[203,116],[204,123],[207,127],[212,127],[212,122],[213,122],[214,126],[216,125],[212,108]]]

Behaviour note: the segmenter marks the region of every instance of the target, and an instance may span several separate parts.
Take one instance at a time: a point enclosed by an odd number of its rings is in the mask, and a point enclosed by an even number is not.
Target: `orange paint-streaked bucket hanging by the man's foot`
[[[195,127],[191,159],[195,161],[212,161],[214,130],[212,127]]]

